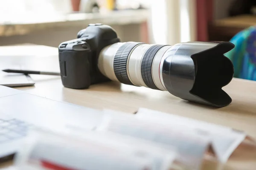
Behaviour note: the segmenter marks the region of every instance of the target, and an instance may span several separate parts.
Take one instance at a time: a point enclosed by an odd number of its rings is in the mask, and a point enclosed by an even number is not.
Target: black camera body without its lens
[[[77,39],[62,42],[58,51],[64,87],[84,89],[109,81],[99,71],[97,61],[102,48],[116,42],[120,42],[116,31],[102,24],[90,24],[79,31]]]

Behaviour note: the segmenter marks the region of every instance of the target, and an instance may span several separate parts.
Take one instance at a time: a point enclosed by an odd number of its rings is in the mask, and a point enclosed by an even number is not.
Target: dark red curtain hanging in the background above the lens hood
[[[213,20],[213,3],[213,0],[196,0],[198,41],[208,41],[208,23]]]

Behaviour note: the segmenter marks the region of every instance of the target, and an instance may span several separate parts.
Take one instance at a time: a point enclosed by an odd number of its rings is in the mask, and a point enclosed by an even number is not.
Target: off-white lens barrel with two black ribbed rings
[[[101,51],[98,67],[113,81],[166,91],[162,78],[163,59],[171,45],[119,42]]]

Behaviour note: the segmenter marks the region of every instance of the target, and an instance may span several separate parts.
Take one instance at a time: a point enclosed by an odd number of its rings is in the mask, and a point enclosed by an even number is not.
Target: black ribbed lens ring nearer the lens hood
[[[143,55],[140,71],[143,82],[148,86],[148,88],[160,90],[155,85],[152,77],[152,64],[157,51],[159,51],[163,46],[166,45],[153,45],[148,48],[148,50]]]

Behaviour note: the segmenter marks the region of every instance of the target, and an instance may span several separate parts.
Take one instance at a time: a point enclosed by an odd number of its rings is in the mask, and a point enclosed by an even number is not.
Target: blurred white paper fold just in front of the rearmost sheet
[[[136,119],[123,113],[105,110],[102,125],[97,130],[119,133],[175,147],[178,161],[193,169],[200,169],[204,153],[210,147],[207,136],[178,126],[163,126]]]

